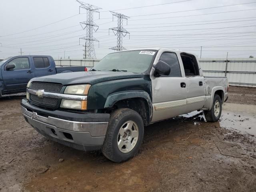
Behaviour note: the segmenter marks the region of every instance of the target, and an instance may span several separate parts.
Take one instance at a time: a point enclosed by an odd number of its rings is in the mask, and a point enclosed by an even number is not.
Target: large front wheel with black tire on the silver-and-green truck
[[[143,135],[144,123],[141,116],[131,109],[117,109],[110,114],[102,153],[111,161],[118,163],[126,161],[138,152]]]

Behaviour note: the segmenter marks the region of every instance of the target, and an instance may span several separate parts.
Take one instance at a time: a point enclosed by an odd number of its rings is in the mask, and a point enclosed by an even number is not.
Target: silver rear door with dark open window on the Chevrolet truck
[[[201,109],[205,104],[205,82],[196,57],[192,54],[181,53],[182,63],[188,88],[187,111],[192,112]]]

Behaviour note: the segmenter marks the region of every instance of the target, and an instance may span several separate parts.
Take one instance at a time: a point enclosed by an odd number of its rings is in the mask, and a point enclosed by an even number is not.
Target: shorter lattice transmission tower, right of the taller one
[[[112,30],[114,32],[114,34],[117,36],[117,44],[115,47],[112,47],[110,49],[113,49],[113,50],[124,50],[125,48],[123,47],[123,37],[125,37],[127,34],[129,34],[129,38],[130,38],[130,33],[123,28],[123,20],[126,19],[126,22],[128,20],[128,16],[126,15],[123,15],[123,14],[120,14],[120,13],[116,13],[116,12],[113,12],[113,11],[110,11],[113,15],[113,20],[114,20],[114,16],[116,16],[118,18],[117,20],[117,27],[114,27],[114,28],[109,28],[109,30]],[[108,30],[108,33],[109,33],[109,30]]]

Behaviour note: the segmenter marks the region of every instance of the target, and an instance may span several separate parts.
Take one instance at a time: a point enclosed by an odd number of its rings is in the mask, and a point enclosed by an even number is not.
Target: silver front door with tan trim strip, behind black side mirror
[[[152,72],[150,73],[153,100],[152,122],[186,112],[186,78],[182,77],[176,53],[162,52],[159,60],[166,62],[171,67],[171,72],[168,76],[160,77],[155,77]]]

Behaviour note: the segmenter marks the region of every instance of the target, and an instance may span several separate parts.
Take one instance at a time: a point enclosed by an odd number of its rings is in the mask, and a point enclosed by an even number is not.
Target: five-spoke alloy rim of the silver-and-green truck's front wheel
[[[117,137],[117,145],[121,152],[130,152],[138,141],[139,131],[138,125],[134,121],[125,122]]]

